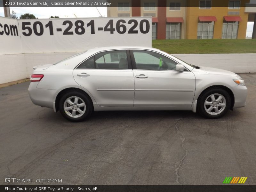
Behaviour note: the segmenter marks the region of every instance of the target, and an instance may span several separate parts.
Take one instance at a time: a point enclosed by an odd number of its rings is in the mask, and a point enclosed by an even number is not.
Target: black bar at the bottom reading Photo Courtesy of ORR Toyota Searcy
[[[245,185],[221,185],[221,186],[141,186],[141,185],[66,185],[66,186],[49,186],[49,185],[2,185],[0,186],[1,192],[244,192],[255,191],[256,186]]]

